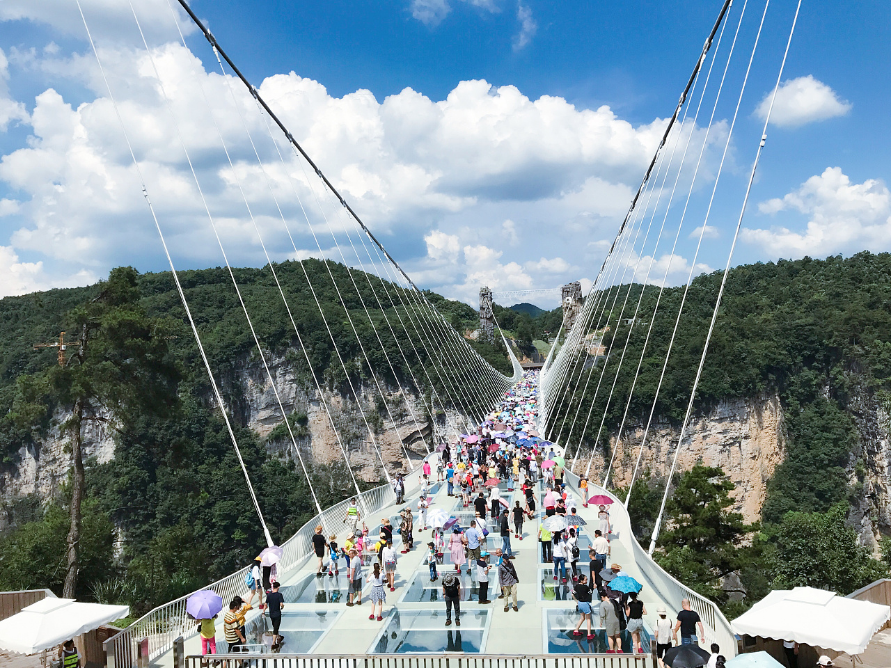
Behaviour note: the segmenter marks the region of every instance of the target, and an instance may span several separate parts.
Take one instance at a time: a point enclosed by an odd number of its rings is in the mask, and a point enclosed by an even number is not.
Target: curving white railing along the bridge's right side
[[[567,482],[577,488],[578,476],[569,471],[567,471],[565,475]],[[609,494],[609,491],[602,489],[598,485],[591,485],[589,486],[589,489],[591,489],[592,486],[597,487],[602,493]],[[613,496],[613,494],[609,495]],[[617,512],[625,513],[625,516],[627,517],[628,511],[618,500],[610,509],[610,513],[612,514]],[[628,525],[630,526],[630,518]],[[644,550],[641,547],[641,544],[637,542],[634,534],[630,535],[629,538],[632,550],[634,551],[634,564],[640,569],[642,575],[648,581],[647,584],[649,584],[658,594],[659,598],[664,600],[667,605],[673,607],[674,610],[680,610],[681,601],[683,601],[683,599],[688,599],[690,601],[691,609],[699,614],[702,624],[705,627],[706,637],[700,639],[704,641],[704,645],[707,647],[712,642],[716,642],[721,647],[721,653],[724,656],[736,656],[736,638],[730,622],[724,617],[720,608],[715,604],[715,601],[707,599],[702,596],[702,594],[691,590],[690,587],[675,580],[671,574],[667,573],[662,568],[662,566],[659,566],[653,561],[650,555],[647,554],[647,550]]]

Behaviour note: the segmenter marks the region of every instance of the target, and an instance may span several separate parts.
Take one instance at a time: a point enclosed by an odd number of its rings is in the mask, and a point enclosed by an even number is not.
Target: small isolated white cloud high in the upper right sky
[[[764,120],[771,104],[772,92],[755,110],[756,116]],[[851,102],[841,100],[838,94],[812,75],[783,81],[777,89],[773,102],[771,123],[780,127],[797,127],[817,120],[844,116],[851,110]]]

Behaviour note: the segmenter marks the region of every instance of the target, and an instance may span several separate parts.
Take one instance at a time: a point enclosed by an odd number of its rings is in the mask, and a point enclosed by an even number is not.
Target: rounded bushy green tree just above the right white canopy
[[[845,525],[846,504],[825,513],[789,512],[777,527],[771,557],[774,589],[816,587],[849,594],[887,577],[888,569]]]

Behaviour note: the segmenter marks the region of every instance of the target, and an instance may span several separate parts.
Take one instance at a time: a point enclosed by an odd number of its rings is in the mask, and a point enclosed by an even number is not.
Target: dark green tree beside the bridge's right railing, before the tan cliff
[[[725,601],[723,579],[739,573],[757,555],[744,544],[756,525],[732,511],[735,485],[721,468],[697,464],[681,477],[666,503],[659,534],[660,566],[710,599]]]

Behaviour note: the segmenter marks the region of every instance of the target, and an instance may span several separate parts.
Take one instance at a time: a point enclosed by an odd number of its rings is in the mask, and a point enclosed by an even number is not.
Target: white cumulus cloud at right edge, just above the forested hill
[[[804,227],[797,229],[743,228],[741,239],[770,257],[891,249],[891,192],[877,179],[852,183],[840,167],[827,167],[785,197],[761,202],[758,210],[766,215],[796,212],[806,218]]]

